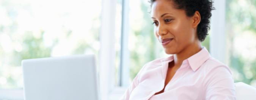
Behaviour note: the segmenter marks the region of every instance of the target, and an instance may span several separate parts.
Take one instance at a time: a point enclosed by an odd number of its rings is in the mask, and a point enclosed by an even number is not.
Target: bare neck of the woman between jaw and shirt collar
[[[180,67],[185,59],[195,55],[201,49],[202,47],[200,42],[185,47],[181,52],[174,54],[174,65]]]

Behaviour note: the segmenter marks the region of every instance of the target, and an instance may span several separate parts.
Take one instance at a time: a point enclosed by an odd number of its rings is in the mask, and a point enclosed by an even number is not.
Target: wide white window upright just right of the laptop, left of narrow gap
[[[99,52],[100,99],[108,100],[115,87],[115,12],[116,0],[102,0],[101,48]]]

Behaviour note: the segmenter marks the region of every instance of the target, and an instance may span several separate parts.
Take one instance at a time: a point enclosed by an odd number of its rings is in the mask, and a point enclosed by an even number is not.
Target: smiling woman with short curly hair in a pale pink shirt
[[[173,55],[145,64],[121,100],[235,100],[230,69],[201,47],[212,0],[150,2],[154,34]]]

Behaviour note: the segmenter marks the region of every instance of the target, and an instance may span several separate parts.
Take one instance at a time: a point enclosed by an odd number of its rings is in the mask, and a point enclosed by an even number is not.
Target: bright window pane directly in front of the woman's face
[[[144,64],[156,58],[155,50],[160,51],[153,33],[149,11],[147,0],[130,0],[130,80]]]

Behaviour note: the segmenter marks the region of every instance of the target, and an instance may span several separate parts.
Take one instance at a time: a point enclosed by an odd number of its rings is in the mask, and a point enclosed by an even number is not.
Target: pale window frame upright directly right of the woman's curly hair
[[[226,0],[215,0],[210,29],[210,54],[220,62],[227,64],[225,9]]]

